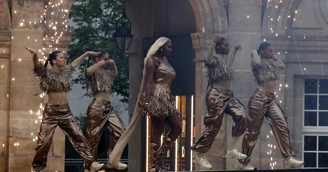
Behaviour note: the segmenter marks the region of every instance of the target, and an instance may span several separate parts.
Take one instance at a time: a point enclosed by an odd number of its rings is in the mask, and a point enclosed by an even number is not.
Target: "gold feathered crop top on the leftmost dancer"
[[[49,69],[43,65],[34,66],[33,74],[40,80],[40,88],[46,92],[67,93],[72,90],[72,64],[60,69]]]

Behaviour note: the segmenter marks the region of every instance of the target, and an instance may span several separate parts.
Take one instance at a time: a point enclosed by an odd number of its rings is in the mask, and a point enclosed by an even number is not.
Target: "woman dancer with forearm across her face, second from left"
[[[107,151],[107,158],[110,157],[117,140],[125,130],[124,123],[116,115],[111,105],[113,80],[118,74],[116,64],[114,60],[109,59],[109,55],[104,49],[99,48],[96,52],[100,52],[100,54],[95,57],[95,64],[86,71],[88,87],[91,88],[93,95],[93,100],[87,110],[88,127],[86,138],[92,147],[95,159],[97,159],[98,144],[104,126],[110,131],[110,145]],[[111,64],[112,68],[104,69],[108,64]],[[107,167],[120,170],[128,167],[128,165],[119,161],[113,165],[107,164]]]

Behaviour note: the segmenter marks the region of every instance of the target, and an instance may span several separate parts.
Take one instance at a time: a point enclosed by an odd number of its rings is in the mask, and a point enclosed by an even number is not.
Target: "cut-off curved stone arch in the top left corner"
[[[10,10],[7,0],[0,0],[0,30],[10,29]]]

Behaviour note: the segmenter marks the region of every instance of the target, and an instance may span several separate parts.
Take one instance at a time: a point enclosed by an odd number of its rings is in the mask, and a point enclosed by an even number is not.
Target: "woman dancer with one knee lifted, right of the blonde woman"
[[[215,49],[215,55],[214,55]],[[226,39],[216,37],[211,43],[208,51],[205,66],[207,67],[207,77],[211,88],[206,94],[206,105],[208,113],[204,116],[205,129],[199,140],[191,147],[199,152],[195,156],[194,163],[204,170],[212,169],[212,165],[206,160],[205,153],[210,149],[217,133],[219,132],[224,113],[232,116],[234,124],[232,126],[232,140],[227,149],[226,155],[236,159],[246,158],[240,153],[236,143],[246,130],[246,112],[244,106],[234,98],[231,91],[231,82],[234,79],[234,69],[231,67],[236,53],[241,49],[240,45],[235,46],[231,56],[226,59],[224,55],[229,53],[229,43]]]

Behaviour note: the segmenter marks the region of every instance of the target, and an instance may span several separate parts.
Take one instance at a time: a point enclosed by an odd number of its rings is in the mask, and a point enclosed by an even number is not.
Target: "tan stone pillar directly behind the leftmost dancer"
[[[8,63],[8,76],[10,87],[2,93],[8,92],[8,157],[9,171],[31,171],[32,160],[37,147],[37,136],[42,119],[42,110],[47,98],[41,95],[39,80],[34,77],[31,53],[24,47],[40,50],[38,56],[42,59],[41,51],[48,57],[50,51],[65,51],[70,45],[72,33],[61,33],[62,37],[57,46],[51,39],[55,31],[44,31],[43,16],[44,1],[25,1],[22,6],[17,0],[11,4],[11,50],[10,63]],[[41,23],[40,23],[41,20]],[[59,21],[58,21],[59,22]],[[48,35],[48,37],[46,37]],[[57,35],[59,36],[59,34]],[[57,39],[57,38],[56,38]],[[55,40],[56,40],[55,39]],[[51,43],[52,42],[52,43]],[[50,47],[49,45],[54,45]],[[46,48],[44,50],[43,48]],[[4,99],[4,98],[3,98]],[[4,105],[4,104],[3,104]],[[6,105],[6,104],[5,104]],[[3,106],[4,107],[4,106]],[[65,136],[57,128],[53,136],[53,143],[48,153],[47,168],[45,172],[64,171],[65,162]]]

